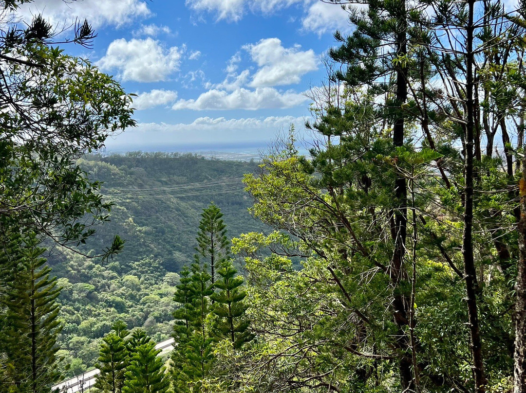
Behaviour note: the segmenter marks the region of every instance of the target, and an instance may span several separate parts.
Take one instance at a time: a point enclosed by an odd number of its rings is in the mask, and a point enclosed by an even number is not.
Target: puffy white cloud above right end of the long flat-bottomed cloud
[[[312,49],[284,48],[278,38],[261,39],[245,49],[260,67],[252,77],[252,87],[297,84],[303,75],[318,69],[318,60]]]

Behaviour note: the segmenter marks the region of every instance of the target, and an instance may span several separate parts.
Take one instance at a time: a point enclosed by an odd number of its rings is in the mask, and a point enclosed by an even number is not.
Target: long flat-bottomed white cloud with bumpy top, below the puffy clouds
[[[303,104],[307,98],[303,94],[288,90],[280,92],[271,87],[258,87],[255,90],[239,88],[228,92],[211,89],[201,94],[197,99],[177,101],[172,109],[277,109],[292,108]]]

